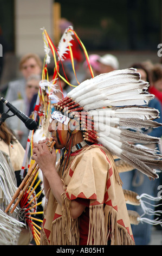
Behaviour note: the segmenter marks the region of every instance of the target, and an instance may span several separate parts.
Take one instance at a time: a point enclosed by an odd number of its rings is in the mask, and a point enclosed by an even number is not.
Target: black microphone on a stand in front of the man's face
[[[23,123],[25,124],[25,126],[29,130],[36,129],[36,127],[37,127],[36,121],[34,121],[33,119],[27,117],[27,115],[25,115],[22,111],[18,110],[16,107],[14,107],[9,101],[5,100],[3,97],[1,97],[0,100],[9,108],[9,110],[14,115],[17,115],[17,117],[20,118],[20,120],[23,121]]]

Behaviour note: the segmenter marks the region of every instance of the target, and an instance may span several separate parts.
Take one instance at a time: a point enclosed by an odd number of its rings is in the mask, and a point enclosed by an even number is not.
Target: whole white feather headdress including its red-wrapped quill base
[[[146,106],[154,98],[147,93],[148,86],[133,68],[115,70],[82,82],[55,108],[78,118],[85,141],[102,144],[135,169],[158,178],[155,170],[162,168],[161,155],[135,145],[159,143],[159,138],[138,130],[162,126],[153,121],[159,111]]]

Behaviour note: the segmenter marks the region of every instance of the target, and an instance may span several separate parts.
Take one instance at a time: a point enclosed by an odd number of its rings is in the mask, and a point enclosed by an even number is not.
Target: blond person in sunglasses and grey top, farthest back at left
[[[31,74],[40,75],[42,71],[42,60],[34,53],[25,54],[19,63],[19,70],[22,77],[18,80],[8,83],[5,99],[15,101],[17,99],[25,99],[25,85]]]

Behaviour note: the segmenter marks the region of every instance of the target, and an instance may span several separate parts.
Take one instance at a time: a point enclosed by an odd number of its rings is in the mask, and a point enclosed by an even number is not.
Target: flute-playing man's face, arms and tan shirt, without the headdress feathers
[[[44,141],[33,149],[33,159],[44,175],[48,200],[41,244],[133,245],[125,198],[112,155],[102,145],[88,145],[82,131],[70,131],[68,122],[73,119],[64,118],[58,112],[51,118],[49,131],[56,141],[55,148],[67,152],[55,167],[55,150],[48,154]]]

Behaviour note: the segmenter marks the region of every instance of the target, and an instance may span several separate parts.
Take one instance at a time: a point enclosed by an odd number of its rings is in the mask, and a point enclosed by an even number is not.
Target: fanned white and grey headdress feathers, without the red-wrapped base
[[[147,176],[158,178],[154,169],[158,168],[161,162],[159,160],[149,160],[146,152],[142,150],[141,156],[138,156],[138,148],[136,148],[136,151],[135,147],[133,148],[125,143],[125,141],[133,143],[140,141],[144,144],[159,143],[159,138],[125,129],[125,127],[134,127],[135,129],[144,127],[147,129],[161,126],[158,122],[153,121],[153,119],[158,118],[159,112],[157,109],[145,106],[154,97],[154,95],[145,92],[148,86],[147,82],[140,80],[140,75],[136,70],[117,70],[84,81],[68,96],[72,97],[92,116],[94,129],[98,131],[99,143],[103,144],[113,154],[118,155],[122,160],[140,169]],[[101,109],[107,106],[110,108],[104,111]],[[111,106],[114,106],[114,108],[111,108]],[[92,113],[93,109],[95,114]],[[105,115],[103,121],[101,121],[102,117],[99,117],[99,113],[102,112]],[[106,120],[109,124],[106,123]],[[114,130],[112,126],[114,126]],[[138,157],[138,160],[135,156]],[[153,157],[155,157],[154,154]]]

